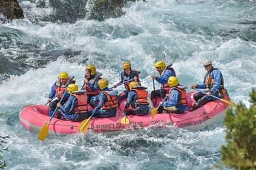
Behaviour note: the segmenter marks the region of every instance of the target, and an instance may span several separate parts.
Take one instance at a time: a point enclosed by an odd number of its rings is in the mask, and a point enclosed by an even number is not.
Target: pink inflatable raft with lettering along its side
[[[191,106],[193,100],[193,93],[187,93],[186,97],[188,100],[188,106]],[[229,98],[225,98],[229,99]],[[160,98],[156,100],[155,106],[150,101],[151,108],[159,105]],[[105,133],[117,133],[124,129],[140,129],[140,128],[159,128],[165,127],[166,125],[173,125],[178,128],[186,128],[188,130],[202,130],[208,125],[212,125],[216,121],[222,119],[225,116],[225,111],[228,108],[228,104],[222,101],[216,100],[195,111],[187,111],[182,114],[172,113],[158,113],[154,118],[151,118],[151,114],[138,116],[128,115],[127,118],[130,120],[129,125],[122,125],[120,123],[123,118],[124,102],[121,103],[118,108],[117,116],[114,118],[92,118],[90,122],[90,128],[87,132],[105,132]],[[32,132],[39,132],[41,128],[50,119],[48,115],[48,106],[46,105],[31,105],[25,106],[19,113],[19,119],[21,125]],[[68,135],[70,133],[77,133],[78,125],[81,122],[71,122],[67,120],[60,120],[53,118],[50,121],[49,135]]]

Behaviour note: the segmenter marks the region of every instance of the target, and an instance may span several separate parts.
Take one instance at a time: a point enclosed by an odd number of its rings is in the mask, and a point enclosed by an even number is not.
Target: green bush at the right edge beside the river
[[[235,112],[235,113],[234,113]],[[242,102],[229,108],[224,125],[227,145],[222,147],[225,166],[234,169],[256,169],[256,91],[250,93],[250,108]]]

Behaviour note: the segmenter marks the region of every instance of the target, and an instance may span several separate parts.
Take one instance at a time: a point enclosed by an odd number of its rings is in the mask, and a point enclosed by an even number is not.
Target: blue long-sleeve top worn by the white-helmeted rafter
[[[196,87],[198,89],[206,89],[206,79],[207,79],[208,73],[206,73],[203,83],[202,84],[196,84]],[[211,69],[210,70],[210,77],[214,79],[213,87],[210,89],[210,93],[213,93],[214,91],[220,89],[221,81],[223,80],[223,75],[220,72],[219,69]]]

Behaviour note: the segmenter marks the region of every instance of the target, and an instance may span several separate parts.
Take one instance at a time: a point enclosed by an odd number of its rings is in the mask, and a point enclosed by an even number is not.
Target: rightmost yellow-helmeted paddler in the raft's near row
[[[166,98],[160,103],[166,113],[184,113],[188,111],[186,100],[186,87],[178,83],[177,77],[169,77],[168,85],[171,88],[169,94],[166,94]],[[161,111],[159,111],[161,113]]]

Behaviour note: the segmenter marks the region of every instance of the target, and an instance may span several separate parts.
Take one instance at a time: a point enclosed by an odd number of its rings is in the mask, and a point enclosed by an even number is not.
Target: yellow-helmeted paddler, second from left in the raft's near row
[[[110,118],[116,116],[118,91],[111,90],[108,87],[109,82],[107,79],[100,79],[97,84],[101,90],[99,103],[97,103],[94,110],[90,111],[90,114],[95,112],[93,117],[96,118]]]

